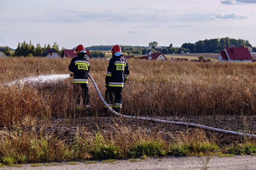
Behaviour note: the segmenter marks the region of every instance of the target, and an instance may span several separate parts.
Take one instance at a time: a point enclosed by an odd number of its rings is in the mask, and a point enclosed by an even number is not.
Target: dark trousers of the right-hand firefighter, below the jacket
[[[122,88],[107,87],[105,92],[105,101],[113,108],[114,111],[119,113],[122,108]],[[104,106],[104,112],[108,112],[108,108]]]

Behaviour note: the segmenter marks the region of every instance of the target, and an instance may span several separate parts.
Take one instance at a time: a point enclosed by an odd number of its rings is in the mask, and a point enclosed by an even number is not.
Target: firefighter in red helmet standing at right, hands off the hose
[[[108,71],[105,78],[105,101],[114,111],[120,112],[122,108],[122,89],[125,87],[125,81],[129,76],[128,63],[121,52],[119,45],[111,48],[112,57],[109,60]],[[104,106],[105,113],[107,107]]]

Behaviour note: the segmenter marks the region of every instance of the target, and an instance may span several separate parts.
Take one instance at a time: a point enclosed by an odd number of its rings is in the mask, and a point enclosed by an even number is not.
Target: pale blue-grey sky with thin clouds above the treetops
[[[256,0],[0,0],[0,46],[72,49],[230,37],[256,46]]]

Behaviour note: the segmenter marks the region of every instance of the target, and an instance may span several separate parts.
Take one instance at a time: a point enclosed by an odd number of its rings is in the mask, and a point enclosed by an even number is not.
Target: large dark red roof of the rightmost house
[[[244,47],[226,47],[230,59],[253,59],[248,48]]]

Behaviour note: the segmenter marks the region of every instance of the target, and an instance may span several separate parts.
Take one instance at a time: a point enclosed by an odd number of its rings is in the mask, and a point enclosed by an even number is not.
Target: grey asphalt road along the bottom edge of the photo
[[[256,156],[233,157],[164,157],[150,158],[139,161],[117,160],[115,162],[88,164],[76,162],[70,165],[62,162],[56,166],[32,167],[23,164],[22,167],[1,167],[0,170],[256,170]]]

